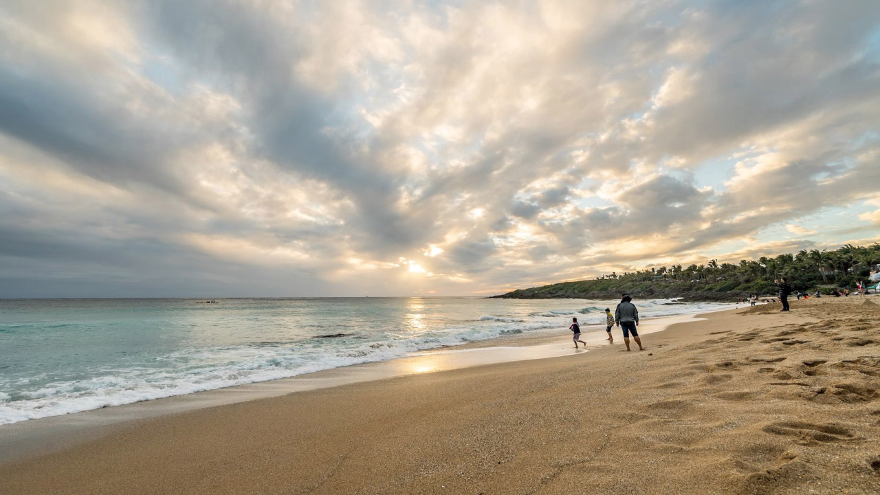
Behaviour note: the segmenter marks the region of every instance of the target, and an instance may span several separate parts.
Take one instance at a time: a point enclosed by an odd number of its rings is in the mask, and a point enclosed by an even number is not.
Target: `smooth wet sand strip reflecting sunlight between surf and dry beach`
[[[720,310],[730,311],[730,310]],[[718,313],[709,312],[707,314]],[[663,332],[672,325],[702,319],[705,314],[675,314],[642,321],[642,335]],[[588,327],[584,327],[585,329]],[[303,373],[287,378],[264,380],[224,388],[213,388],[183,395],[106,406],[59,416],[40,417],[0,425],[0,464],[25,460],[97,440],[109,434],[107,428],[153,417],[185,413],[234,403],[259,401],[320,388],[334,388],[374,380],[442,373],[455,369],[491,366],[535,359],[566,358],[607,347],[604,327],[585,331],[582,338],[590,347],[575,350],[569,336],[502,336],[467,344],[438,347],[415,352],[413,356]],[[566,330],[568,331],[568,330]],[[620,329],[617,329],[620,333]],[[622,345],[622,336],[617,344]]]

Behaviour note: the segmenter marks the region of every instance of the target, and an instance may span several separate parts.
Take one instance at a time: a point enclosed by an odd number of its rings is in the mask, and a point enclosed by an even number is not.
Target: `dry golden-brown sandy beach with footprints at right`
[[[109,425],[0,465],[0,492],[880,492],[880,304],[778,309]]]

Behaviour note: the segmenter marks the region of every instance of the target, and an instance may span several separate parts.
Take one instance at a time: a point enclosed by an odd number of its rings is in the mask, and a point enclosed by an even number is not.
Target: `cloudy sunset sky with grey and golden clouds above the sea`
[[[6,0],[0,297],[491,295],[880,240],[880,2]]]

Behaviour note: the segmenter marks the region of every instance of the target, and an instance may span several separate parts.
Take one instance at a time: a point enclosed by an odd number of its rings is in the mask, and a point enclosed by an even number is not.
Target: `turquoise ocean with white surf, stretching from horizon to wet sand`
[[[604,331],[584,299],[0,299],[0,425],[509,336]],[[730,305],[634,301],[642,318]]]

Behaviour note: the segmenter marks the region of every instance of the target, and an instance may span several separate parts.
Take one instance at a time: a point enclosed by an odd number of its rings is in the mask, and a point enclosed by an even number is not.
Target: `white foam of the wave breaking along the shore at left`
[[[400,341],[352,344],[354,341],[349,339],[342,343],[344,347],[335,349],[241,346],[172,352],[159,358],[167,364],[165,368],[106,370],[109,374],[89,380],[59,381],[23,390],[19,393],[22,399],[0,405],[0,425],[385,361],[414,351],[546,328],[543,322],[509,320],[513,319],[493,318],[480,328],[445,329],[442,335],[428,334]]]

